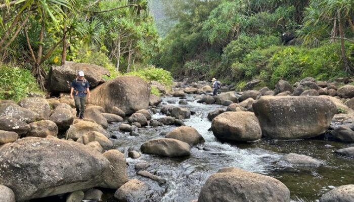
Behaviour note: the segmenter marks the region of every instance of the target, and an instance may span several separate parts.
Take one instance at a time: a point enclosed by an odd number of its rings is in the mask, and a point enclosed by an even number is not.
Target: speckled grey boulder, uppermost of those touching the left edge
[[[5,116],[12,117],[26,123],[31,123],[39,118],[38,115],[34,114],[31,110],[22,108],[12,103],[0,105],[0,117]]]

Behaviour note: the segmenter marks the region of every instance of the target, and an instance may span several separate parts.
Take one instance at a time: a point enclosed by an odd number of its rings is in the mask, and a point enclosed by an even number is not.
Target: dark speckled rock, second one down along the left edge
[[[16,132],[19,135],[26,134],[31,129],[27,123],[11,117],[0,117],[0,130]]]

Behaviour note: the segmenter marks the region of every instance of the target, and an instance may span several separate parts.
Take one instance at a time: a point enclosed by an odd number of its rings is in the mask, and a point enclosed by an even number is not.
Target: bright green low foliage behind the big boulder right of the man
[[[136,71],[136,72],[129,72],[124,75],[134,75],[134,76],[139,76],[140,78],[144,79],[145,81],[157,81],[163,86],[165,86],[166,89],[171,89],[172,87],[172,76],[171,73],[161,69],[161,68],[155,68],[153,66]]]

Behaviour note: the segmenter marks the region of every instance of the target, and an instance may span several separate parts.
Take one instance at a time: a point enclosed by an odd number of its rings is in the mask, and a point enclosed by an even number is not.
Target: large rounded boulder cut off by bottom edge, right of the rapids
[[[212,174],[200,191],[198,202],[289,202],[290,191],[279,180],[237,168]]]

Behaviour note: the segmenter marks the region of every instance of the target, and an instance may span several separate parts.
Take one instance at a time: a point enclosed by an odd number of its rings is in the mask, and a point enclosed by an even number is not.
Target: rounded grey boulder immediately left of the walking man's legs
[[[74,115],[71,110],[65,108],[55,108],[49,120],[57,124],[59,130],[67,130],[74,122]]]

